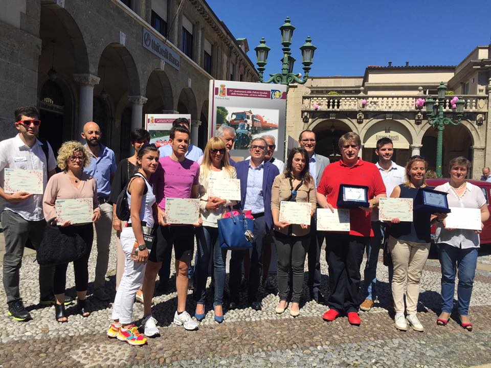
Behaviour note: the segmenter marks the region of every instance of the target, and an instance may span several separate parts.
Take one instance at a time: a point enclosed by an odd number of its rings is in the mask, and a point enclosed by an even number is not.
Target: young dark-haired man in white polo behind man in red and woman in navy
[[[392,155],[394,154],[394,145],[392,140],[388,137],[381,138],[376,143],[375,154],[378,156],[378,162],[375,166],[382,175],[385,188],[387,190],[387,197],[390,197],[392,191],[399,184],[406,181],[406,172],[402,166],[397,165],[392,161]],[[367,263],[365,264],[364,271],[364,286],[367,290],[367,296],[363,303],[360,305],[362,311],[368,312],[376,300],[376,283],[377,283],[377,262],[378,251],[380,250],[382,235],[385,231],[384,224],[378,220],[378,209],[375,208],[372,211],[372,229],[373,238],[370,239],[366,247]],[[392,279],[392,269],[389,266],[389,279]]]

